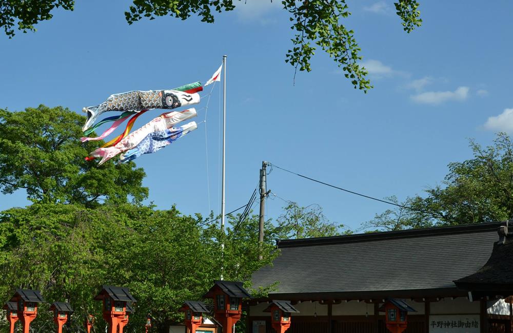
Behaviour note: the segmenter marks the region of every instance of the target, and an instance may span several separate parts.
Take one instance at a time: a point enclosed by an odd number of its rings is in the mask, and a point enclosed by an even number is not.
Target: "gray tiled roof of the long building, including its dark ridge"
[[[455,288],[490,257],[500,223],[279,241],[281,254],[253,273],[277,294]]]

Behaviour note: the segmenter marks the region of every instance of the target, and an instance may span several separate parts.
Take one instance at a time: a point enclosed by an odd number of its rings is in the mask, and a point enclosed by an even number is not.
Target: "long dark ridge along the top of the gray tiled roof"
[[[484,231],[496,231],[505,222],[480,222],[461,225],[433,226],[420,229],[407,229],[399,231],[385,231],[368,234],[354,234],[331,237],[302,238],[302,239],[279,239],[278,247],[328,245],[361,241],[377,241],[385,239],[425,237],[433,235],[465,234]]]

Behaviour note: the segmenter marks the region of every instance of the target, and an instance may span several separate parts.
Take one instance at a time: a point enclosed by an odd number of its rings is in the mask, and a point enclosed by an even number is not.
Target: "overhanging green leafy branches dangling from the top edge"
[[[341,23],[351,14],[346,0],[282,0],[281,3],[289,13],[293,31],[292,47],[287,51],[285,61],[296,72],[298,69],[309,72],[310,60],[315,50],[320,48],[333,58],[355,89],[366,92],[372,88],[367,70],[359,64],[361,49],[354,38],[354,31]],[[1,0],[0,27],[4,27],[10,37],[14,35],[16,22],[19,30],[35,30],[34,24],[50,19],[54,8],[73,10],[73,4],[72,0]],[[125,16],[129,24],[144,17],[153,19],[167,15],[183,20],[198,15],[203,22],[213,23],[214,13],[231,11],[239,4],[241,0],[133,0]],[[399,0],[394,6],[406,32],[422,24],[417,0]]]

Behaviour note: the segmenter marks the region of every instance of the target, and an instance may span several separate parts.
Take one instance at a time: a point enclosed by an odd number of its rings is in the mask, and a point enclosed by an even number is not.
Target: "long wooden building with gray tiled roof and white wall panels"
[[[253,287],[279,283],[269,298],[249,302],[248,332],[272,332],[263,310],[279,299],[300,311],[287,333],[384,333],[379,308],[396,298],[416,310],[406,333],[513,333],[513,235],[504,223],[277,245],[273,264],[252,276]]]

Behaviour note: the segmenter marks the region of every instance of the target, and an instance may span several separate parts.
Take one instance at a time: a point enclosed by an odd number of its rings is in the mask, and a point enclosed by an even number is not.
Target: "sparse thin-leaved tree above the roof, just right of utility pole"
[[[291,201],[283,209],[284,213],[278,218],[275,229],[278,238],[328,237],[350,233],[344,230],[343,224],[330,222],[318,204],[302,207]]]

